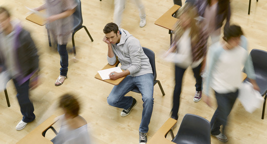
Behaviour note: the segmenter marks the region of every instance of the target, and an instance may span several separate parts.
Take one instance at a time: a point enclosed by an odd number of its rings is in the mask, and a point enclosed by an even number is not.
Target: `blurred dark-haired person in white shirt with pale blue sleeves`
[[[248,56],[247,41],[240,26],[231,25],[224,30],[222,42],[209,48],[207,78],[205,80],[205,102],[210,106],[210,88],[215,91],[218,107],[211,119],[211,134],[220,141],[227,142],[225,135],[227,118],[230,114],[238,89],[242,83],[241,68],[245,65],[247,78],[253,88],[259,91],[255,81],[253,64]],[[220,126],[223,125],[222,131]]]

